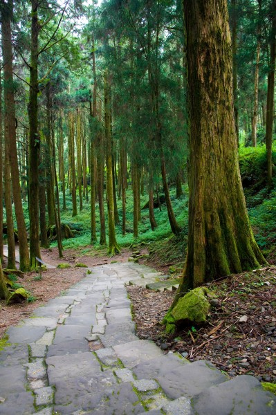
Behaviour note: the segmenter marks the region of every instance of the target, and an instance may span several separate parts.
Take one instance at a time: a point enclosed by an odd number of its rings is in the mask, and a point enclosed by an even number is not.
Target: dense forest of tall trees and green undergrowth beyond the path
[[[17,245],[22,272],[41,247],[147,246],[187,291],[274,264],[275,10],[228,1],[213,59],[185,1],[1,0],[6,268]]]

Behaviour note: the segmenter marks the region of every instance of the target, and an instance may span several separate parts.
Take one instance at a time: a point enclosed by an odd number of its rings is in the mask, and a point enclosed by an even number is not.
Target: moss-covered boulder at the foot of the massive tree
[[[210,303],[206,298],[208,292],[208,289],[205,287],[194,288],[184,297],[178,299],[176,306],[170,312],[170,315],[175,320],[175,324],[178,325],[183,322],[205,323],[211,310]]]

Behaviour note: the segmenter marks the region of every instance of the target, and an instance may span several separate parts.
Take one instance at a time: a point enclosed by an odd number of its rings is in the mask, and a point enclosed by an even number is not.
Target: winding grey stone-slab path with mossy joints
[[[10,328],[0,414],[275,414],[275,395],[252,376],[229,380],[210,362],[136,337],[125,284],[153,274],[138,264],[98,266]]]

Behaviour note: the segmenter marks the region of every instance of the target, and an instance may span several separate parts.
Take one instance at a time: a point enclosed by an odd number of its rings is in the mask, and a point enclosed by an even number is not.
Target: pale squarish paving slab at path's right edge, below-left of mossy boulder
[[[129,369],[140,362],[163,356],[163,352],[154,342],[149,340],[136,340],[135,342],[120,344],[113,346],[113,349],[118,358],[122,360],[123,365]]]

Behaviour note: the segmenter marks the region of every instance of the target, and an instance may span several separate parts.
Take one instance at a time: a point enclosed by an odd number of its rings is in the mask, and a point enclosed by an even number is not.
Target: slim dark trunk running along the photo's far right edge
[[[273,120],[274,120],[274,90],[275,90],[275,59],[276,59],[276,0],[271,1],[271,40],[270,40],[270,62],[268,72],[268,94],[266,103],[266,160],[267,160],[267,183],[268,192],[272,187],[272,142],[273,142]]]

